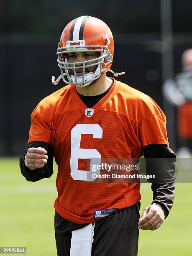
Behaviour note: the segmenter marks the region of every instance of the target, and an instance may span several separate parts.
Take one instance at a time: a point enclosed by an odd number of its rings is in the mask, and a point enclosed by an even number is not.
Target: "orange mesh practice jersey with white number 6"
[[[166,119],[147,95],[115,81],[87,117],[74,85],[44,98],[31,115],[29,140],[54,147],[58,197],[54,207],[74,223],[94,222],[93,212],[119,210],[141,199],[140,184],[89,183],[81,159],[140,158],[143,146],[167,144]],[[35,172],[35,170],[34,170]]]

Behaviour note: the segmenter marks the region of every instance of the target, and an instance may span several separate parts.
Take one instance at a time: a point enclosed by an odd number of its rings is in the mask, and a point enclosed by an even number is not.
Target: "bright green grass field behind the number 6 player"
[[[28,256],[56,256],[54,175],[27,182],[18,159],[0,159],[0,247],[27,247]],[[158,230],[141,230],[138,256],[192,255],[192,184],[177,184],[174,206]],[[141,184],[141,212],[150,205],[150,184]],[[140,212],[140,214],[141,214]]]

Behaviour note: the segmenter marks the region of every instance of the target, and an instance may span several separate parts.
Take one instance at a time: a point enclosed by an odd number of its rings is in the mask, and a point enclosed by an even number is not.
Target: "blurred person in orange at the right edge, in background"
[[[190,158],[192,154],[192,49],[182,54],[182,72],[175,80],[167,80],[163,86],[164,97],[177,107],[177,156]]]

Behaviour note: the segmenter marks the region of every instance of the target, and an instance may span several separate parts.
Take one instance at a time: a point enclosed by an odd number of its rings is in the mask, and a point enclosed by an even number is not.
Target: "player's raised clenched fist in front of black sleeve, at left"
[[[30,170],[44,167],[47,163],[48,156],[44,148],[29,148],[26,154],[26,163]]]

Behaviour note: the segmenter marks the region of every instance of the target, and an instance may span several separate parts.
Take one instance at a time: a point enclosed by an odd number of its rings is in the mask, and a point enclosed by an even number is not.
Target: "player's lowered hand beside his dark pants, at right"
[[[165,219],[164,211],[159,205],[149,205],[143,210],[138,222],[138,229],[156,230]]]

